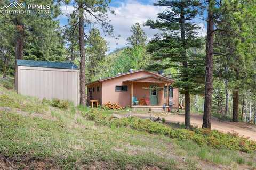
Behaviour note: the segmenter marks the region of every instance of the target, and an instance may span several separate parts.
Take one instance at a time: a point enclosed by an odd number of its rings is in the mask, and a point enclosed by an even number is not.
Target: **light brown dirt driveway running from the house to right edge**
[[[150,114],[141,114],[141,113],[132,113],[131,115],[140,117],[140,118],[149,118]],[[168,123],[183,123],[185,121],[185,115],[183,114],[152,114],[154,117],[160,116],[165,118]],[[193,126],[202,126],[203,115],[192,114],[191,115],[191,125]],[[245,137],[250,137],[250,139],[256,141],[256,126],[242,123],[242,122],[228,122],[228,121],[219,121],[217,118],[212,117],[212,129],[219,130],[221,132],[236,132],[239,135]]]

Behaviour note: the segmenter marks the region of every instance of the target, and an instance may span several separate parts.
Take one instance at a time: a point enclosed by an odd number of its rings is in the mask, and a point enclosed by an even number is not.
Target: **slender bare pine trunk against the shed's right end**
[[[84,9],[83,4],[78,4],[79,11],[79,48],[80,48],[80,104],[86,105],[86,90],[85,90],[85,55],[84,55]]]

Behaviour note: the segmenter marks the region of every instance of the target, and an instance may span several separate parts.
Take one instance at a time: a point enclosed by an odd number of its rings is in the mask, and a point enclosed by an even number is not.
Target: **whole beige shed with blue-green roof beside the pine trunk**
[[[79,104],[79,69],[75,64],[16,60],[16,66],[15,89],[19,94]]]

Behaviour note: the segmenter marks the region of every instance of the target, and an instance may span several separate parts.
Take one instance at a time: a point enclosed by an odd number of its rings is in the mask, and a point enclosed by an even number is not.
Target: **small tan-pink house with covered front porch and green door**
[[[132,108],[163,108],[172,102],[173,108],[178,108],[179,90],[172,88],[173,82],[146,70],[130,71],[88,83],[87,100],[99,100],[100,104],[110,101]]]

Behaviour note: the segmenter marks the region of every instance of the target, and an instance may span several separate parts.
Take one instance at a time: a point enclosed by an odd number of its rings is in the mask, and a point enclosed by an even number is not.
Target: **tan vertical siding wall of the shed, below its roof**
[[[79,70],[18,66],[20,94],[79,104]]]

